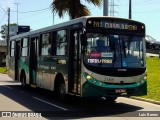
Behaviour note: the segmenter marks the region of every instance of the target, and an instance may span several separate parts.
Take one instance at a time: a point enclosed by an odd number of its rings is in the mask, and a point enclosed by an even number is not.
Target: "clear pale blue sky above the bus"
[[[69,20],[66,14],[63,18],[53,12],[50,5],[53,0],[0,0],[0,26],[7,24],[7,8],[11,9],[10,23],[29,25],[32,30],[47,27]],[[108,0],[109,5],[114,1],[114,16],[128,18],[129,0]],[[91,16],[103,16],[103,5],[96,7],[81,0],[89,10]],[[160,41],[160,1],[159,0],[132,0],[132,19],[145,23],[146,34]],[[15,4],[17,3],[17,4]],[[109,12],[111,6],[109,6]],[[111,14],[109,13],[109,16]],[[1,36],[1,35],[0,35]],[[1,39],[1,37],[0,37]]]

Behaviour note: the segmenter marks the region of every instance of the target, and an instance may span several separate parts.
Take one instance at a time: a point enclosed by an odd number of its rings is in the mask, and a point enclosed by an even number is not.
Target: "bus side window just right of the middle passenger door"
[[[51,34],[44,33],[41,38],[41,55],[51,55]]]

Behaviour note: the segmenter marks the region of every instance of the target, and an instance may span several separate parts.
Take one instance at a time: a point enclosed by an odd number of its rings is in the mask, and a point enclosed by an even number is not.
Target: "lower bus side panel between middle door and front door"
[[[55,77],[58,73],[67,80],[67,63],[65,57],[40,57],[37,67],[37,86],[53,91]]]

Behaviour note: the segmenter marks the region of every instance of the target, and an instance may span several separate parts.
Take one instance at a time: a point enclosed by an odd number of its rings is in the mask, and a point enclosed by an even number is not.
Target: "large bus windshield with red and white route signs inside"
[[[95,67],[143,68],[143,37],[87,33],[84,62]]]

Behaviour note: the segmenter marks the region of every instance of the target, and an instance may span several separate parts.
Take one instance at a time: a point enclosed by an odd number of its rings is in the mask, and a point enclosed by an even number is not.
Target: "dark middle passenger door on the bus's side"
[[[36,85],[37,51],[38,51],[37,44],[38,44],[38,37],[32,37],[30,40],[30,58],[29,58],[30,85]]]

